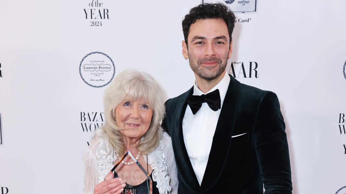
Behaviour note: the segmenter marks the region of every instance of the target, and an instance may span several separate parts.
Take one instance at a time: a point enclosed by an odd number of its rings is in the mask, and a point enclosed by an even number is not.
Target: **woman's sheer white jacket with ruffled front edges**
[[[85,163],[84,191],[82,194],[93,194],[94,187],[104,180],[104,177],[113,168],[113,161],[117,159],[117,156],[113,154],[113,149],[102,137],[101,129],[97,129],[96,133],[96,137],[82,155]],[[144,159],[146,161],[146,157]],[[172,140],[167,133],[163,134],[158,147],[148,154],[148,164],[153,169],[153,181],[157,182],[158,191],[161,194],[177,193],[177,170]]]

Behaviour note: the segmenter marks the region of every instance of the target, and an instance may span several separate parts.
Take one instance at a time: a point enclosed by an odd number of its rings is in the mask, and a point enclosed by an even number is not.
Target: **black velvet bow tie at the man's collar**
[[[219,89],[216,89],[215,91],[212,91],[211,93],[208,93],[206,95],[204,94],[202,94],[201,96],[189,95],[188,98],[186,98],[186,101],[188,102],[188,105],[190,106],[192,113],[194,115],[201,108],[202,103],[207,103],[208,106],[213,111],[217,111],[218,109],[221,108],[221,98],[220,98]]]

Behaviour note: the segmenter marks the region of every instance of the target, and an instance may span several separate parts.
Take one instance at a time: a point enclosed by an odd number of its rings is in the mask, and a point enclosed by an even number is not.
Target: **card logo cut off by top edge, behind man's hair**
[[[256,13],[257,0],[202,0],[202,3],[223,2],[235,13]]]

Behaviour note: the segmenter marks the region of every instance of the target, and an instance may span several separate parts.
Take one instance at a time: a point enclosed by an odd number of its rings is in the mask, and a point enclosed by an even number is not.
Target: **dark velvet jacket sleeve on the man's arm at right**
[[[265,193],[292,193],[285,123],[277,96],[269,91],[258,105],[255,145]]]

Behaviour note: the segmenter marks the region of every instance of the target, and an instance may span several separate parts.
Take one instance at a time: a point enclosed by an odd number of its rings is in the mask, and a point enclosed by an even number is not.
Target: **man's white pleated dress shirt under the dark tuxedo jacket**
[[[219,89],[221,108],[225,99],[230,77],[227,72],[221,81],[207,93],[198,89],[197,82],[193,86],[193,95],[208,94]],[[204,171],[206,171],[211,144],[219,119],[221,109],[213,111],[207,103],[203,103],[198,112],[193,115],[190,106],[186,107],[183,119],[183,135],[186,151],[188,152],[192,168],[201,185]],[[217,164],[216,164],[217,165]]]

